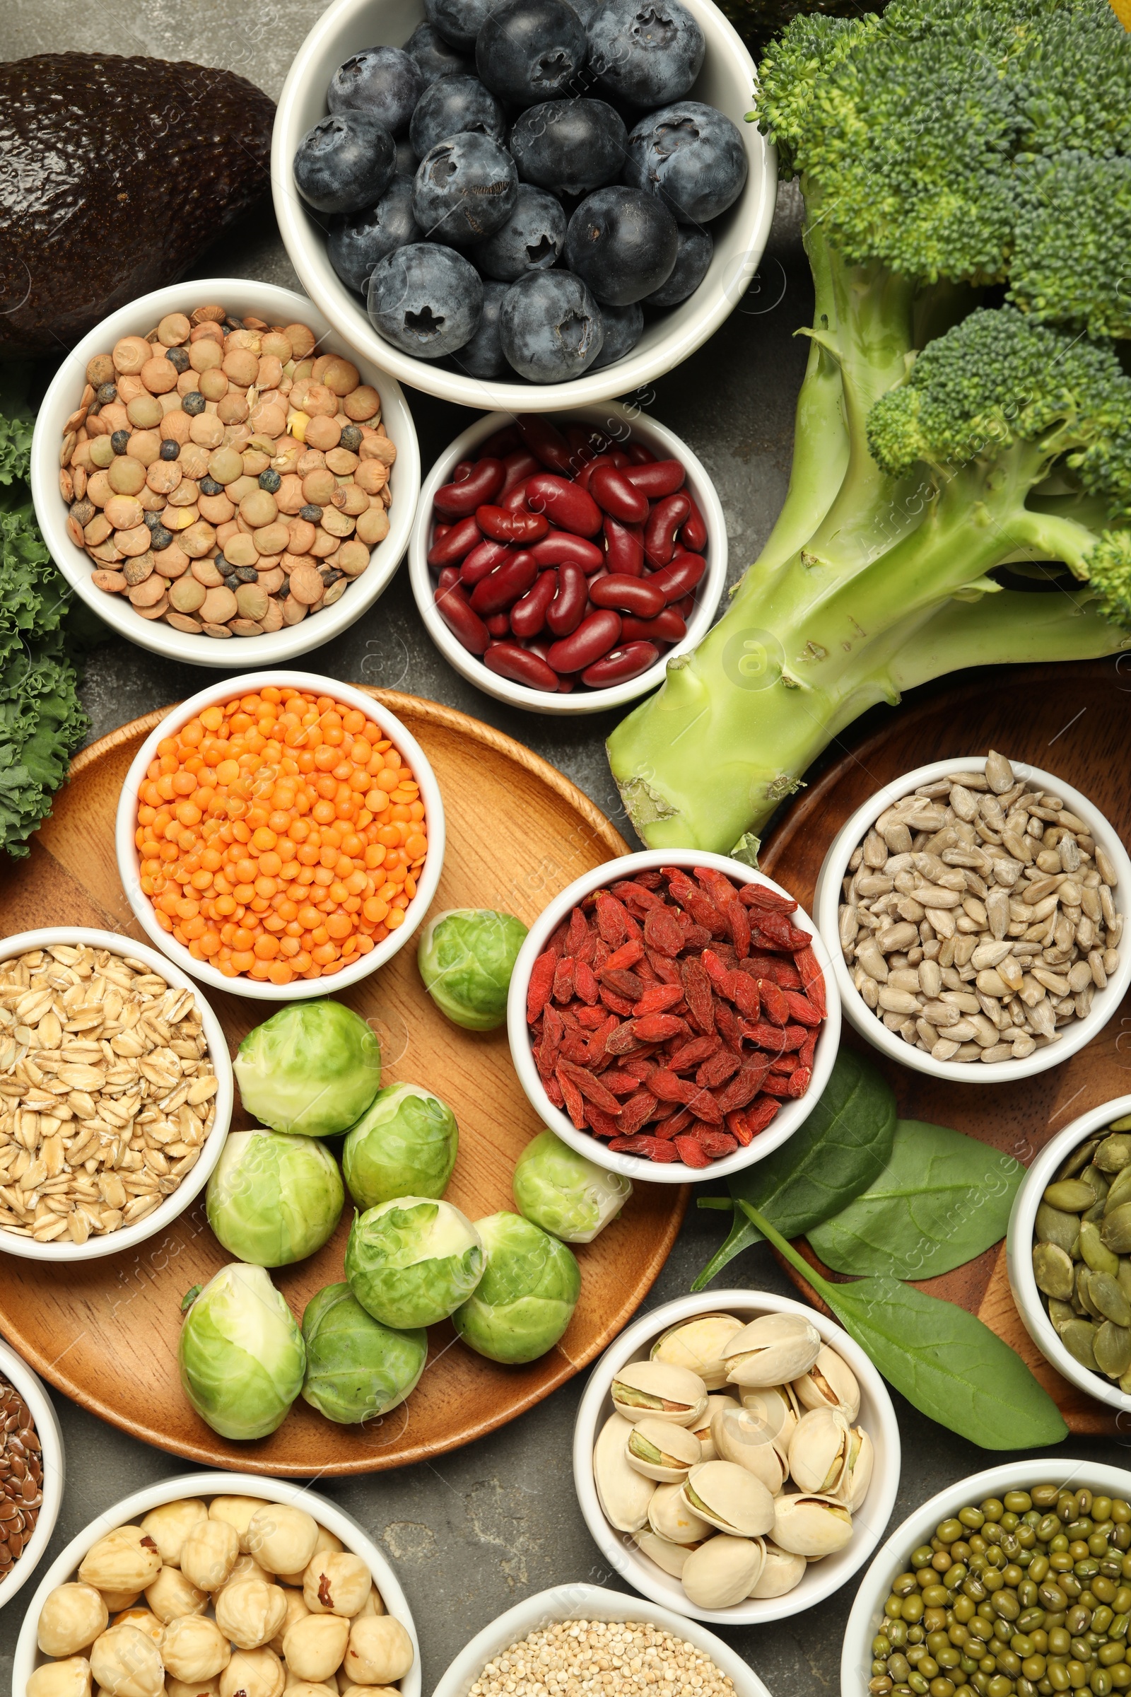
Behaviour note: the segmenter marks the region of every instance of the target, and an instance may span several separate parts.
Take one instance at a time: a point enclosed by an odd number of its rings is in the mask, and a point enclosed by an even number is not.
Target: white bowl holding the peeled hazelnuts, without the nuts
[[[361,1560],[368,1565],[373,1582],[385,1602],[385,1612],[400,1621],[405,1633],[412,1639],[415,1656],[405,1677],[398,1680],[400,1697],[421,1697],[421,1644],[415,1634],[412,1614],[409,1612],[409,1602],[400,1588],[400,1580],[373,1539],[351,1515],[339,1509],[337,1504],[329,1502],[326,1497],[319,1497],[307,1485],[292,1485],[285,1480],[268,1480],[261,1478],[258,1473],[180,1473],[175,1478],[159,1480],[156,1485],[146,1485],[144,1490],[132,1492],[78,1532],[78,1536],[70,1541],[66,1549],[51,1563],[42,1577],[39,1590],[29,1604],[24,1624],[20,1626],[20,1636],[15,1644],[15,1656],[12,1663],[14,1692],[22,1692],[36,1668],[53,1660],[51,1656],[44,1656],[36,1643],[39,1612],[47,1599],[47,1593],[53,1592],[56,1585],[64,1585],[68,1580],[73,1580],[86,1551],[92,1549],[100,1537],[105,1537],[107,1532],[112,1532],[115,1526],[136,1526],[137,1521],[149,1514],[151,1509],[158,1509],[166,1502],[176,1502],[181,1497],[261,1497],[263,1502],[285,1502],[295,1509],[305,1509],[307,1514],[314,1515],[319,1526],[324,1526],[327,1532],[334,1532],[336,1537],[341,1537],[346,1549],[361,1556]]]

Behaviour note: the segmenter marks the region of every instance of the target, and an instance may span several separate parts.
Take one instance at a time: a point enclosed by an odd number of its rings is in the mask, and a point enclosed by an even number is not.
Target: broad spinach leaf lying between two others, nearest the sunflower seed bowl
[[[1022,1178],[1019,1161],[977,1137],[900,1120],[880,1176],[809,1242],[836,1273],[934,1278],[1006,1235]]]

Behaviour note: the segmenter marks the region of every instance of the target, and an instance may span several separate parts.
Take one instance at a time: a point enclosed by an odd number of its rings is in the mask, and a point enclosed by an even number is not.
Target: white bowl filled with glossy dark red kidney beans
[[[432,467],[409,543],[441,653],[534,713],[599,713],[663,684],[726,584],[726,521],[666,426],[605,402],[490,412]]]

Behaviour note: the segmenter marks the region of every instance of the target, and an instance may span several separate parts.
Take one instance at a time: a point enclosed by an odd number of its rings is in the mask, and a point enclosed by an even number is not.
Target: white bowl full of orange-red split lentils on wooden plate
[[[254,672],[154,726],[122,786],[117,860],[146,935],[195,979],[297,1001],[409,942],[444,808],[421,745],[365,691]]]

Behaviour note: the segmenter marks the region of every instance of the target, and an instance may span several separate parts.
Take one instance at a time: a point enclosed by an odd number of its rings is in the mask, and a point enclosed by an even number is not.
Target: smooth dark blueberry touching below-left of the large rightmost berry
[[[671,275],[680,238],[668,209],[644,188],[597,188],[570,219],[565,263],[599,300],[626,307]]]

